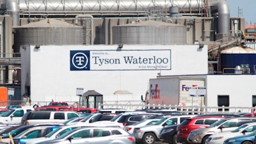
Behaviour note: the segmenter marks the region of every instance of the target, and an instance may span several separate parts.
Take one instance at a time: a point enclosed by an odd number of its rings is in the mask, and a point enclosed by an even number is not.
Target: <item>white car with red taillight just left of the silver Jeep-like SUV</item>
[[[156,124],[156,122],[158,122],[160,119],[146,119],[146,120],[142,120],[141,122],[137,122],[133,125],[127,125],[124,127],[125,131],[129,132],[130,134],[132,134],[132,132],[134,131],[134,128],[136,127],[142,127],[145,125],[153,125]]]

